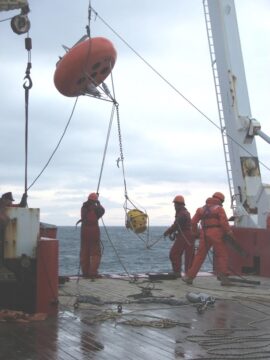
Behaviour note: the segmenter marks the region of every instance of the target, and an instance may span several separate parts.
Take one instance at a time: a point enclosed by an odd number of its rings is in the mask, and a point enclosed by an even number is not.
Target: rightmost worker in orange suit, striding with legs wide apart
[[[192,284],[200,270],[205,257],[211,247],[216,256],[217,277],[221,280],[221,285],[230,285],[228,278],[228,251],[223,240],[224,235],[232,235],[232,231],[222,207],[225,197],[220,192],[215,192],[211,198],[206,200],[206,204],[198,208],[191,220],[192,231],[197,231],[200,222],[200,244],[194,257],[191,268],[187,271],[183,281]]]

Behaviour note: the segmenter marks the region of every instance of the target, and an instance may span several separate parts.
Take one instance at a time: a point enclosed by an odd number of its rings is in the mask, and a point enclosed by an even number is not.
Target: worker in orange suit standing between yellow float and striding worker
[[[192,264],[194,256],[194,239],[191,234],[190,213],[185,207],[185,199],[182,195],[177,195],[174,200],[175,221],[164,232],[164,236],[170,236],[174,241],[170,250],[170,261],[173,272],[177,277],[181,277],[182,256],[185,257],[185,271]]]

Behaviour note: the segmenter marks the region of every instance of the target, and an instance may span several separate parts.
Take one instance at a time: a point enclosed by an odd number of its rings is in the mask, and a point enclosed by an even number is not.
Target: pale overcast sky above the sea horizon
[[[29,101],[28,186],[54,151],[71,115],[75,98],[54,86],[55,64],[86,34],[88,0],[30,0],[31,78]],[[219,124],[201,0],[92,0],[113,30],[192,104]],[[235,0],[252,115],[270,135],[270,1]],[[0,19],[18,11],[1,12]],[[193,215],[215,191],[229,188],[219,130],[153,72],[99,17],[92,16],[91,36],[111,40],[117,50],[113,70],[119,103],[127,193],[146,210],[150,225],[170,225],[172,200],[182,194]],[[0,22],[0,192],[24,191],[25,35],[9,21]],[[111,88],[110,79],[105,81]],[[80,207],[96,191],[112,105],[79,97],[62,143],[28,192],[29,207],[40,208],[41,221],[74,225]],[[269,145],[257,139],[259,158],[269,164]],[[124,225],[124,182],[116,118],[113,122],[100,200],[106,225]],[[261,168],[263,181],[270,183]]]

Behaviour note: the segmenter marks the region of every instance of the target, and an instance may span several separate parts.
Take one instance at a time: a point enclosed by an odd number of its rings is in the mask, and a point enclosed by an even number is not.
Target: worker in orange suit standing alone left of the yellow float
[[[81,208],[81,252],[80,263],[83,277],[98,278],[101,260],[101,241],[98,220],[105,209],[98,200],[98,194],[91,193]]]

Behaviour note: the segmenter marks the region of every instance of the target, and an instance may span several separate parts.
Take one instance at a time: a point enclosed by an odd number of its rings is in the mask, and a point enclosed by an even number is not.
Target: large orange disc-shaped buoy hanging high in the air
[[[65,96],[83,95],[106,79],[116,57],[116,50],[108,39],[96,37],[82,41],[56,64],[54,84]]]

